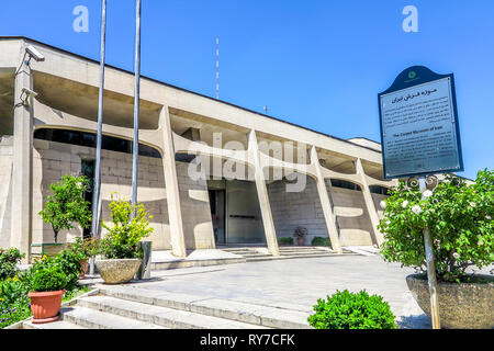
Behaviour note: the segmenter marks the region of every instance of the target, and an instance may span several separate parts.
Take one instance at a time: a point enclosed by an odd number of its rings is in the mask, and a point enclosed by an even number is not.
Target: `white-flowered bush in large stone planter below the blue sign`
[[[423,199],[424,197],[424,199]],[[430,317],[423,230],[429,229],[435,257],[439,319],[445,328],[493,328],[494,276],[472,274],[494,262],[494,171],[468,184],[447,176],[422,194],[403,181],[391,191],[379,228],[386,261],[415,267],[406,278],[420,308]]]

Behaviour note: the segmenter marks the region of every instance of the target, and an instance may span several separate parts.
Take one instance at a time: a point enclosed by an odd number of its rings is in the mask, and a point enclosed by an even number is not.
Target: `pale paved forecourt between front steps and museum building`
[[[337,290],[366,288],[383,296],[401,328],[430,328],[429,318],[407,288],[405,276],[411,273],[413,269],[386,263],[378,256],[353,256],[153,271],[151,280],[127,286],[302,312],[312,312],[317,298]]]

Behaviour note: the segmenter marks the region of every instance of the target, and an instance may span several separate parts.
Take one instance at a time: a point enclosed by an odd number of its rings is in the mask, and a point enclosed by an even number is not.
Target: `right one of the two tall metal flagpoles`
[[[135,91],[134,91],[134,144],[132,148],[132,206],[133,218],[137,204],[137,178],[139,158],[139,90],[141,90],[141,0],[136,0],[135,27]]]

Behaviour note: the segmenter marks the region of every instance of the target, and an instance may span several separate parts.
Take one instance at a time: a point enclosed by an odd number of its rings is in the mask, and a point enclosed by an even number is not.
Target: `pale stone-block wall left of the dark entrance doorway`
[[[102,220],[110,222],[109,204],[112,193],[116,192],[114,194],[116,197],[131,199],[132,155],[110,150],[102,150],[101,154]],[[32,242],[53,242],[52,228],[38,215],[46,196],[49,194],[49,184],[58,181],[66,173],[80,174],[81,160],[94,158],[94,148],[41,139],[34,140]],[[188,248],[211,248],[213,229],[207,196],[205,197],[207,202],[191,199],[191,195],[198,197],[199,190],[202,190],[207,195],[205,181],[194,182],[190,180],[187,177],[187,163],[177,162],[177,170],[182,197],[182,211],[184,211],[186,245]],[[160,158],[139,156],[137,200],[153,215],[150,226],[154,228],[154,231],[148,237],[148,240],[153,241],[153,249],[169,249],[170,229],[164,168]],[[204,224],[206,220],[210,220],[211,230],[209,230],[207,224]],[[72,229],[69,233],[63,231],[58,235],[58,241],[72,241],[81,233],[80,228]],[[104,236],[104,234],[105,230],[103,229],[102,235]]]

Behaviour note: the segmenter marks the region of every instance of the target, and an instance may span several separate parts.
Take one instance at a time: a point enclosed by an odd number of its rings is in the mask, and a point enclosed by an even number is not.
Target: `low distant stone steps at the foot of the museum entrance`
[[[273,257],[268,252],[267,248],[262,247],[224,248],[222,250],[235,254],[240,254],[246,258],[247,262],[338,256],[329,248],[313,246],[280,246],[279,257]],[[358,254],[350,250],[346,250],[345,248],[343,253],[352,256]]]

